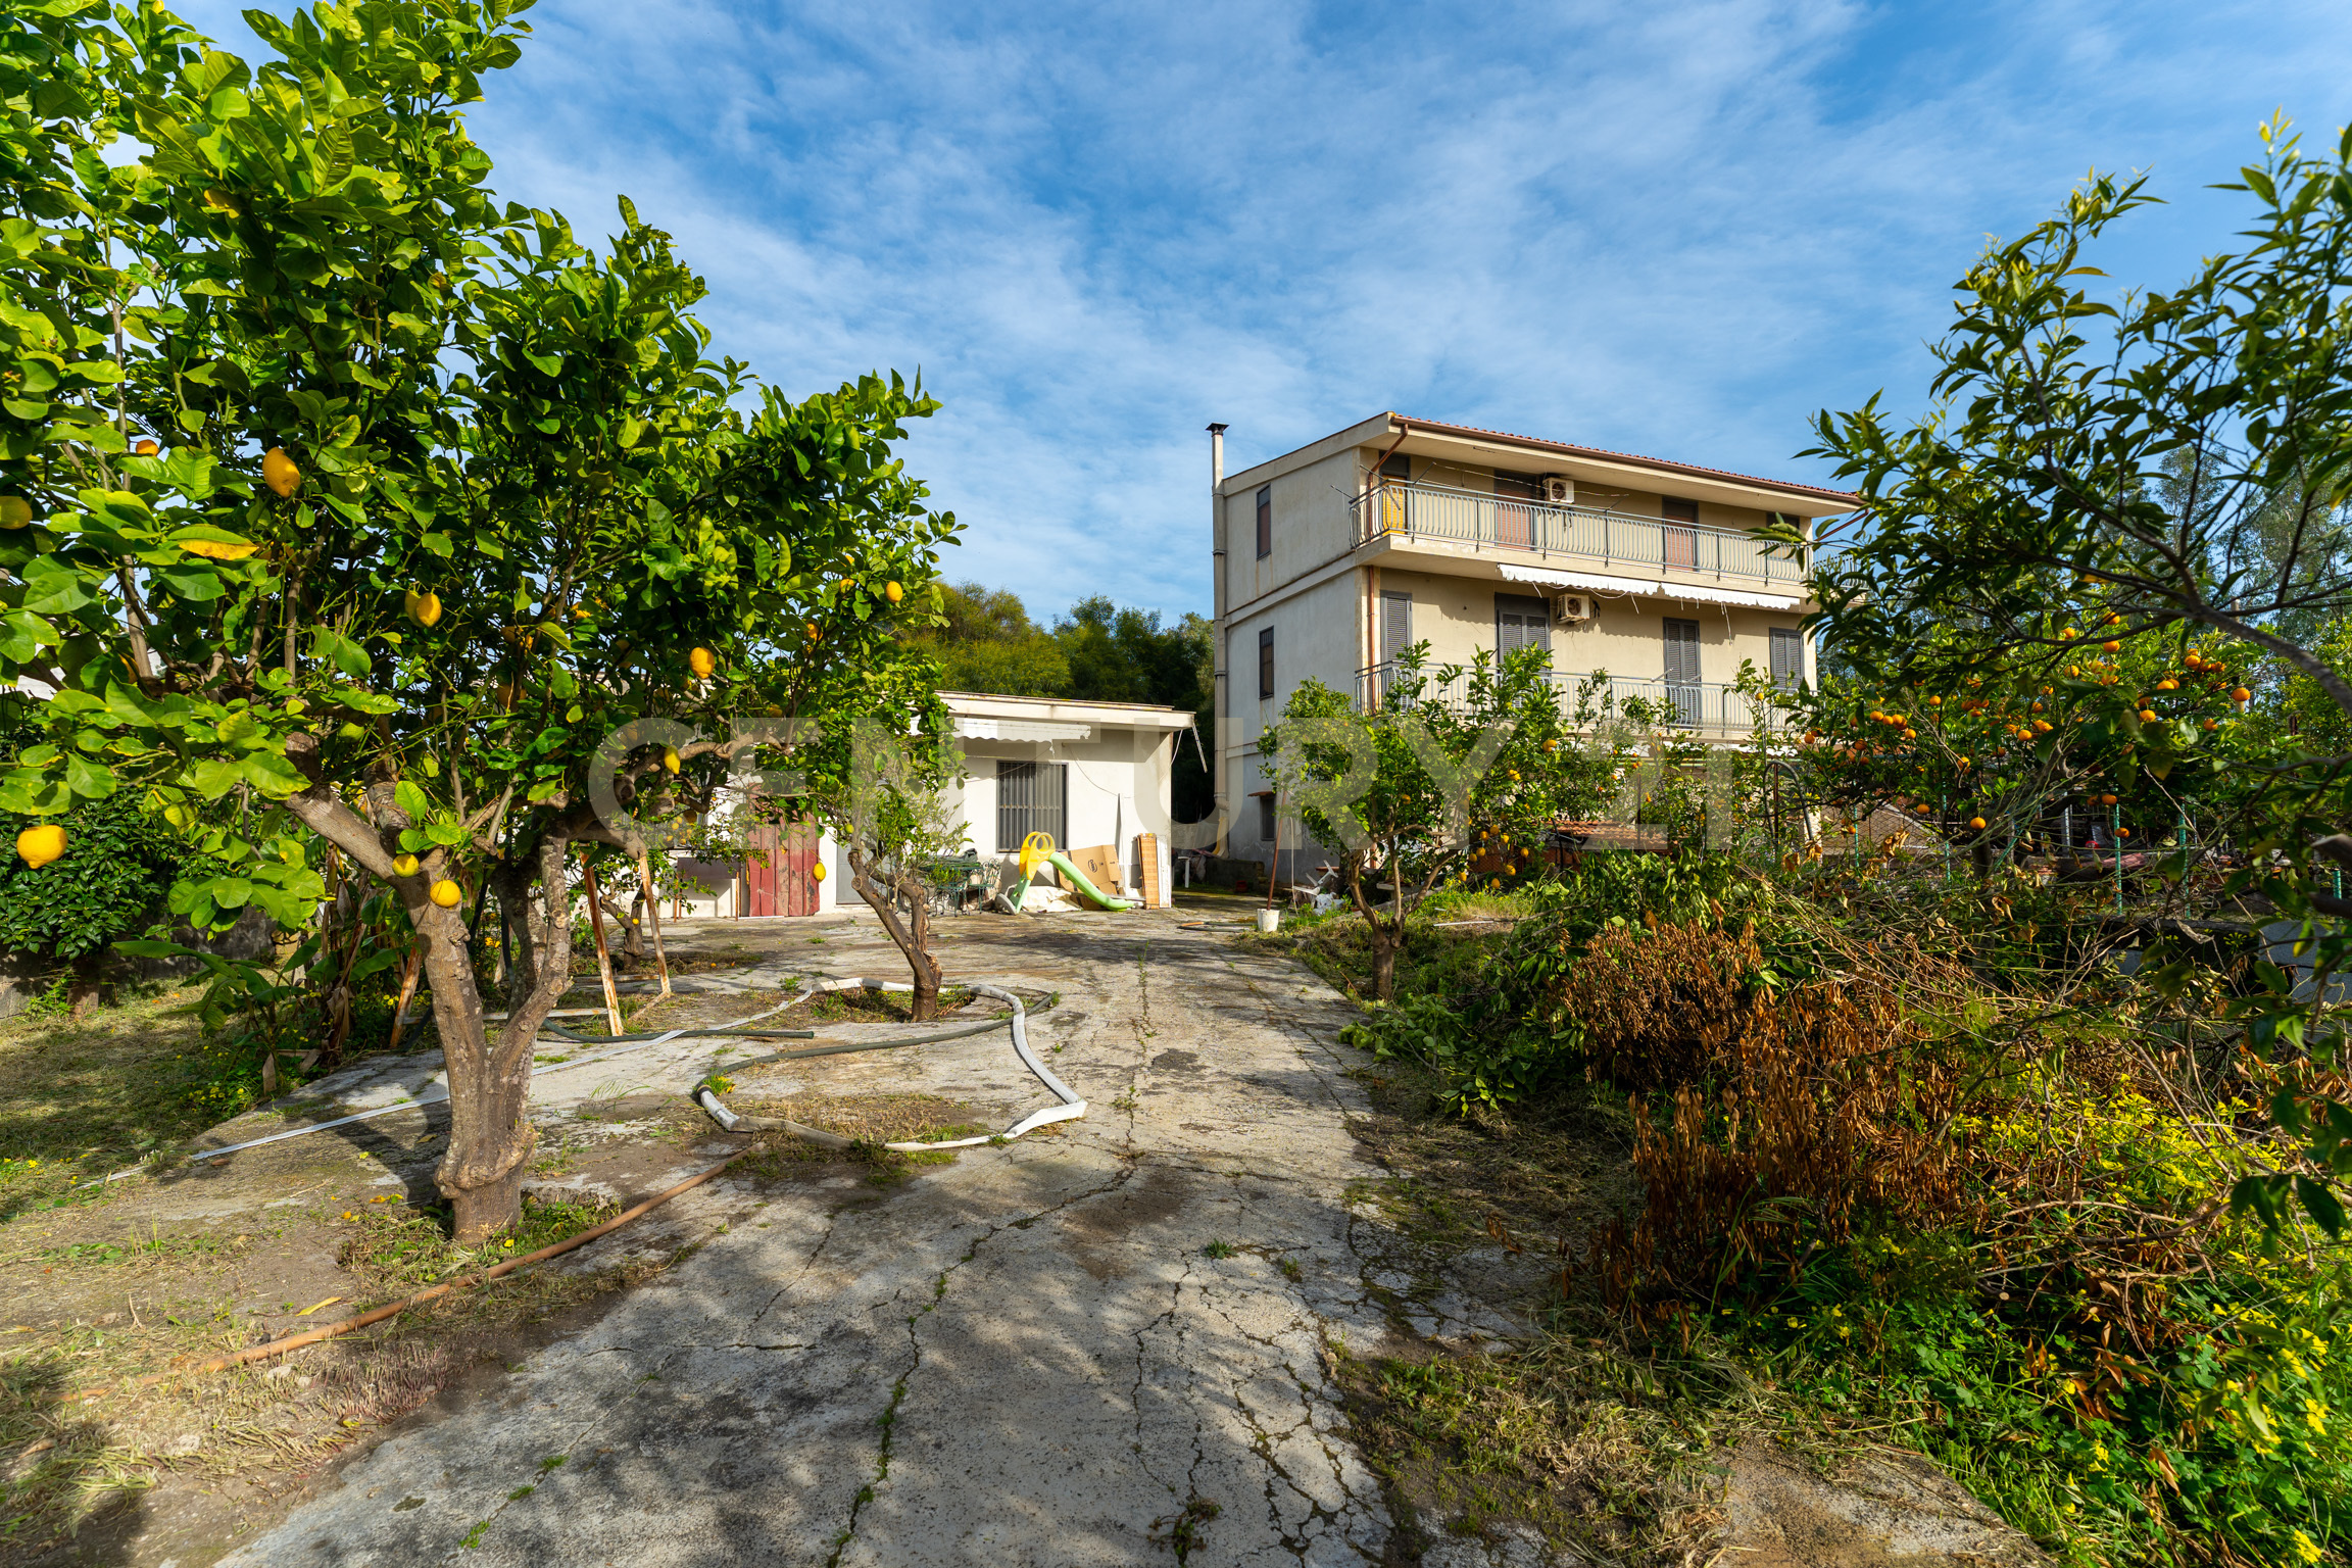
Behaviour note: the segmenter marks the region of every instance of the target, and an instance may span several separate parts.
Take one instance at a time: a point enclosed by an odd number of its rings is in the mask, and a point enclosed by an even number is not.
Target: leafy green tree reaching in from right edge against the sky
[[[2249,244],[2176,289],[2096,296],[2093,249],[2154,197],[2143,181],[2093,176],[1959,282],[1936,346],[1936,414],[1905,428],[1872,400],[1816,421],[1816,451],[1858,480],[1860,529],[1816,569],[1813,625],[1872,698],[1915,684],[1950,693],[1987,663],[2058,689],[2065,668],[2091,668],[2065,637],[2074,628],[2136,658],[2161,649],[2166,670],[2213,637],[2232,644],[2218,654],[2232,665],[2237,646],[2258,649],[2352,717],[2352,679],[2314,646],[2314,628],[2352,611],[2352,132],[2317,155],[2284,125],[2263,141],[2263,160],[2227,186],[2253,202]],[[2140,691],[2138,665],[2114,675],[2117,686],[2070,677],[2093,684],[2065,696],[2171,696]],[[2201,745],[2201,722],[2164,715],[2114,705],[2091,722],[2152,771]],[[2352,917],[2314,865],[2352,863],[2347,759],[2284,748],[2239,762],[2232,783],[2260,813],[2241,835],[2244,882],[2291,917]],[[2352,966],[2343,924],[2312,936],[2321,971]],[[2253,1039],[2286,1046],[2281,1060],[2319,1060],[2286,1072],[2270,1105],[2303,1159],[2246,1175],[2234,1201],[2272,1222],[2300,1204],[2340,1232],[2343,1027],[2326,987],[2298,994],[2263,973]]]

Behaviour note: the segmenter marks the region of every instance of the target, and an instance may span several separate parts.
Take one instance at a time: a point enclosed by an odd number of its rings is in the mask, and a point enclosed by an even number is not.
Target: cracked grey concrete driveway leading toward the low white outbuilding
[[[779,922],[779,952],[807,933]],[[786,954],[800,973],[903,973],[870,926],[823,936]],[[1378,1175],[1345,1128],[1350,1009],[1164,914],[974,917],[943,957],[1061,994],[1033,1039],[1084,1121],[887,1192],[767,1192],[226,1563],[1381,1561],[1327,1352],[1381,1340],[1404,1284],[1350,1206]],[[1002,1034],[793,1079],[1047,1103]],[[1501,1328],[1454,1312],[1411,1309],[1442,1338]]]

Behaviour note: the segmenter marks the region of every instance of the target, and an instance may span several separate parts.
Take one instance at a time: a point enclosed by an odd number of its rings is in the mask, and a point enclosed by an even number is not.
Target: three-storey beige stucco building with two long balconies
[[[1811,682],[1809,559],[1755,536],[1853,508],[1846,491],[1381,414],[1237,475],[1209,425],[1218,802],[1230,853],[1263,853],[1258,733],[1315,677],[1381,701],[1392,661],[1545,646],[1555,682],[1606,672],[1703,741],[1755,715],[1743,661]],[[1806,552],[1809,555],[1809,552]]]

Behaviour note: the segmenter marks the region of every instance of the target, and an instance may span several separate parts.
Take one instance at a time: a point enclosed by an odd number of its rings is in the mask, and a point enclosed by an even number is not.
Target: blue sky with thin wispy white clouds
[[[256,45],[235,7],[183,14]],[[2100,261],[2227,247],[2284,108],[2352,118],[2352,7],[767,5],[543,0],[475,139],[510,200],[614,193],[715,348],[807,393],[922,369],[948,574],[1051,614],[1209,607],[1244,468],[1381,409],[1828,480],[1806,416],[1917,409],[1987,235],[2150,169]]]

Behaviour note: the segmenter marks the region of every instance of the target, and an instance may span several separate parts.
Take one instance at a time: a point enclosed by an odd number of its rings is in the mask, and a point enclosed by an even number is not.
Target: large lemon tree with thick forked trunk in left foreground
[[[40,96],[0,132],[0,682],[49,693],[7,698],[42,738],[0,811],[139,790],[193,842],[198,926],[303,924],[320,853],[388,886],[468,1241],[517,1215],[569,846],[727,771],[724,741],[604,738],[901,691],[866,670],[955,527],[891,456],[920,390],[748,400],[626,205],[597,254],[492,200],[461,108],[515,9],[252,14],[259,71],[153,7],[0,21]],[[485,884],[536,926],[496,1044]]]

